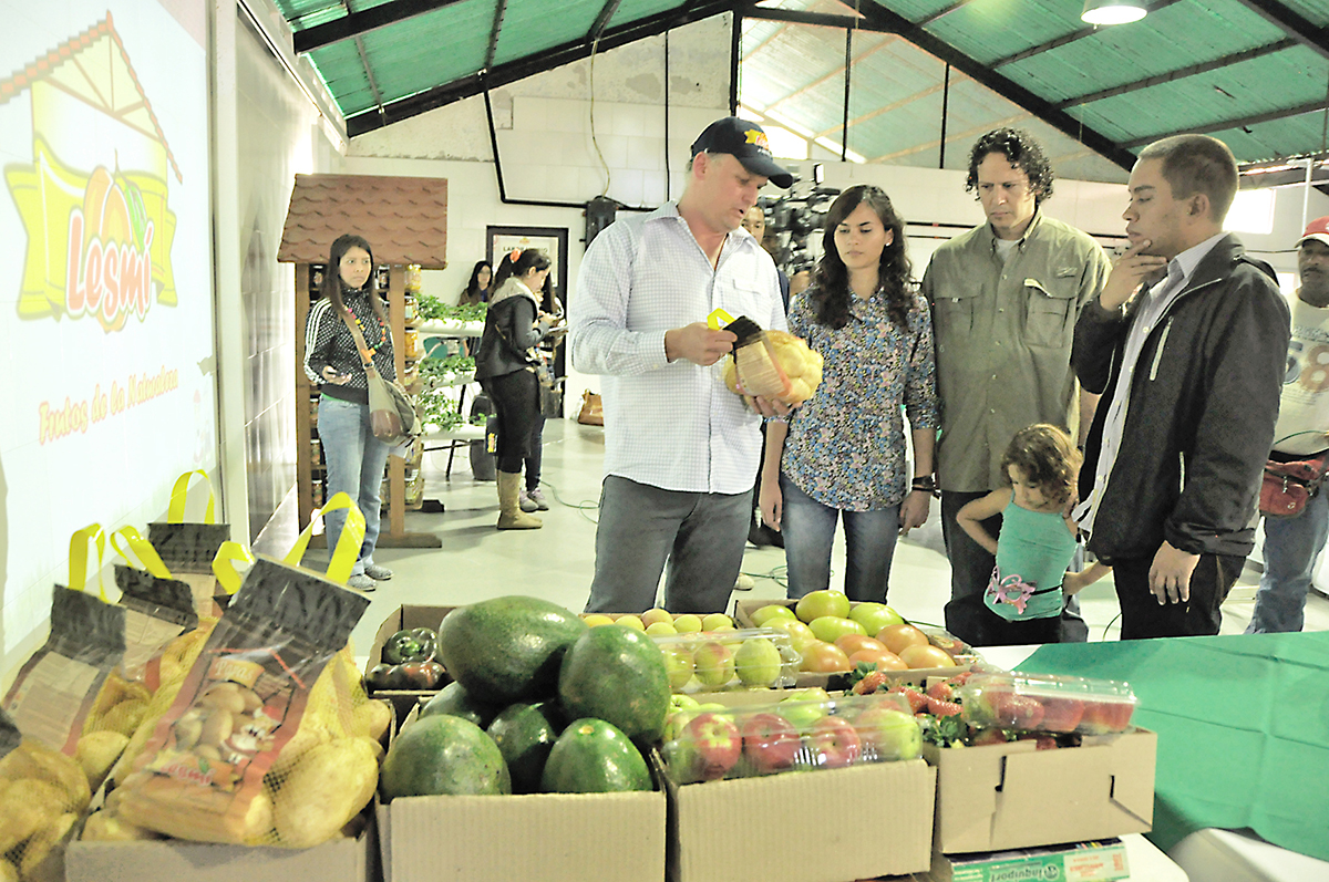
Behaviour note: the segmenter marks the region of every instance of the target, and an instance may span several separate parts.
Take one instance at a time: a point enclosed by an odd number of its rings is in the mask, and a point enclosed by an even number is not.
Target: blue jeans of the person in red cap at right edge
[[[1329,491],[1321,490],[1294,518],[1264,519],[1264,575],[1247,634],[1300,631],[1316,558],[1329,535]]]

